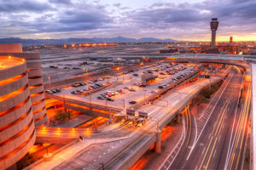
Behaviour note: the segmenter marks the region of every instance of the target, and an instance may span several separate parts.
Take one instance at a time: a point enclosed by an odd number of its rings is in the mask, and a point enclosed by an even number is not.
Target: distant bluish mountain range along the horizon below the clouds
[[[84,42],[176,42],[172,39],[158,39],[154,37],[143,37],[140,39],[129,37],[94,37],[94,38],[62,38],[62,39],[21,39],[19,37],[0,38],[0,43],[22,43],[24,45],[55,45],[64,43]]]

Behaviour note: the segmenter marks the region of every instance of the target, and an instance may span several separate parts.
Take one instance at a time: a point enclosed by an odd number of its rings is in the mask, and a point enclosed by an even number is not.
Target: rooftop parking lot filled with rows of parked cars
[[[117,71],[115,76],[100,77],[73,84],[73,87],[61,89],[61,92],[57,92],[55,95],[97,105],[127,108],[143,101],[144,98],[156,93],[160,88],[165,88],[178,79],[193,73],[195,66],[169,63],[142,65],[139,69],[132,71]],[[157,76],[147,86],[142,82],[145,73],[153,73]],[[112,84],[111,88],[109,88],[110,84]],[[113,84],[117,85],[113,86]],[[97,90],[97,88],[101,90]]]

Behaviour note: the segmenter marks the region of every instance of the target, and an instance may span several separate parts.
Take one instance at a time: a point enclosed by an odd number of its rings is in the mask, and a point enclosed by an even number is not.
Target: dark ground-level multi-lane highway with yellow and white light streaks
[[[183,145],[161,169],[241,169],[249,108],[248,98],[238,108],[242,82],[243,74],[231,73],[201,120],[187,111]]]

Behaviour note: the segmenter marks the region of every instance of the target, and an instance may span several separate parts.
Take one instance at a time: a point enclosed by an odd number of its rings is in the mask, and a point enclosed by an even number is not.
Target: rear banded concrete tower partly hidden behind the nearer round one
[[[0,44],[0,56],[14,56],[26,59],[28,86],[31,94],[32,112],[36,126],[47,122],[44,102],[44,84],[41,71],[40,54],[22,53],[21,44]]]

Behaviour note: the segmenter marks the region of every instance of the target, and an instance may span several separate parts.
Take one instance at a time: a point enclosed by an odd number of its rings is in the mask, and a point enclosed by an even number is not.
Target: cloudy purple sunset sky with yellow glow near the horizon
[[[210,41],[213,17],[217,41],[256,41],[255,0],[0,0],[0,38]]]

